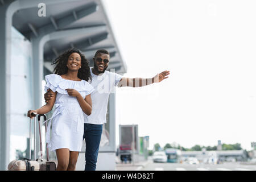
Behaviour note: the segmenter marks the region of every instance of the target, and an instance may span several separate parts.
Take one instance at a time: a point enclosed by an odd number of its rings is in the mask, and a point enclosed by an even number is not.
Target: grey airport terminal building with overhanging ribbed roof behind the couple
[[[126,73],[105,5],[104,0],[0,1],[0,170],[6,170],[11,160],[28,158],[27,111],[44,105],[44,77],[53,72],[51,63],[57,55],[75,47],[93,67],[92,58],[97,49],[107,49],[111,57],[108,70],[114,69],[120,75]],[[47,118],[51,114],[48,113]],[[44,144],[44,132],[42,139]],[[39,135],[36,141],[38,153]],[[115,94],[111,93],[98,170],[115,169],[115,149]],[[85,146],[80,152],[77,170],[84,169],[84,153]],[[55,152],[50,157],[56,160]]]

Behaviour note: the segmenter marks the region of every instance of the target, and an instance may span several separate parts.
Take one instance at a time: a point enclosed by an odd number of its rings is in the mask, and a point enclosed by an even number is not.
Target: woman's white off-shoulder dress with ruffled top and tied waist
[[[57,92],[55,111],[47,126],[46,142],[52,150],[69,148],[70,151],[81,151],[84,134],[84,113],[76,97],[69,96],[65,89],[77,90],[83,98],[93,92],[93,86],[87,81],[65,80],[59,75],[46,76],[44,90]],[[52,131],[50,130],[52,123]],[[51,135],[50,135],[51,131]]]

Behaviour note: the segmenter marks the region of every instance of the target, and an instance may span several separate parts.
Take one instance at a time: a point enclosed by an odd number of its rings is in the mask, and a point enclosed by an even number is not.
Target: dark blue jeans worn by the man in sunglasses
[[[103,125],[84,123],[85,171],[95,171]]]

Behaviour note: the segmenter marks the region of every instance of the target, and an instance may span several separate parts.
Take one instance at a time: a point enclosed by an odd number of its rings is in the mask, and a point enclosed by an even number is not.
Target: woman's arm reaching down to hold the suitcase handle
[[[28,117],[34,118],[35,115],[32,115],[32,113],[35,113],[35,114],[46,114],[46,113],[48,113],[49,111],[52,110],[52,107],[53,107],[53,105],[55,104],[55,100],[56,100],[56,92],[53,92],[51,89],[50,89],[49,92],[53,94],[52,99],[49,100],[49,101],[47,102],[47,104],[44,105],[44,106],[42,106],[40,109],[27,111],[27,116],[28,116]]]

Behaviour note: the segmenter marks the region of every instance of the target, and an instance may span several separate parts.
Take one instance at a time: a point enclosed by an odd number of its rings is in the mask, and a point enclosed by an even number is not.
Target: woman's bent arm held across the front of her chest
[[[85,96],[85,99],[81,96],[79,92],[75,89],[66,89],[69,96],[73,96],[77,98],[82,111],[85,114],[90,115],[92,113],[92,98],[90,98],[90,94]],[[50,100],[49,100],[50,101]]]

